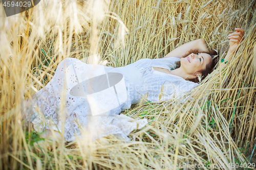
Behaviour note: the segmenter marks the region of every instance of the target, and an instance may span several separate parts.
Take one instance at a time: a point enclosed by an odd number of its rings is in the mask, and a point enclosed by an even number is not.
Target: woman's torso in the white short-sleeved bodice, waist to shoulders
[[[168,70],[175,69],[179,60],[174,57],[140,59],[124,67],[113,68],[110,72],[120,72],[124,76],[131,104],[136,104],[145,93],[148,93],[147,100],[152,102],[169,100],[174,95],[186,92],[197,85],[167,73]]]

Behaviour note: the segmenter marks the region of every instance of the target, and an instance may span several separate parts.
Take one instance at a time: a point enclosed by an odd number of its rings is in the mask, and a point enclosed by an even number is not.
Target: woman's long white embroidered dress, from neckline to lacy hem
[[[179,58],[173,57],[140,59],[124,67],[104,66],[105,72],[118,72],[123,75],[127,100],[115,109],[109,109],[108,112],[92,116],[88,99],[70,94],[67,84],[78,84],[79,78],[76,74],[69,74],[67,77],[66,69],[73,65],[76,70],[79,70],[80,75],[88,75],[93,74],[88,72],[93,65],[83,63],[78,59],[67,58],[59,63],[52,80],[35,93],[27,117],[37,132],[50,128],[61,132],[62,123],[64,123],[64,134],[67,141],[73,141],[76,135],[82,137],[82,129],[93,132],[93,140],[109,134],[130,140],[127,135],[134,129],[144,127],[147,124],[147,119],[135,120],[123,114],[119,115],[122,110],[130,108],[131,104],[136,104],[141,95],[146,92],[148,92],[147,100],[157,102],[169,100],[174,95],[180,95],[198,85],[179,76],[165,74],[153,69],[153,66],[173,69],[176,66],[175,62],[179,60]],[[163,84],[164,90],[159,100]],[[101,101],[106,102],[108,100],[109,98],[101,99]],[[60,110],[60,108],[65,109]]]

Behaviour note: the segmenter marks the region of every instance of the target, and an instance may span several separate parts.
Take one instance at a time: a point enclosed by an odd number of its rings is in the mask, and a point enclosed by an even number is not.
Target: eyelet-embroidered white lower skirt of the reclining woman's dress
[[[73,58],[61,61],[52,80],[46,87],[34,94],[32,105],[27,112],[27,117],[33,128],[37,132],[50,130],[51,128],[62,132],[63,123],[64,132],[62,133],[64,133],[67,141],[75,140],[76,136],[82,137],[83,129],[94,130],[93,139],[116,134],[125,140],[129,140],[127,135],[134,129],[144,127],[147,120],[140,119],[136,121],[130,117],[127,118],[125,115],[117,115],[123,107],[130,108],[131,104],[129,105],[129,103],[126,106],[123,104],[112,109],[108,114],[92,116],[88,101],[79,96],[72,96],[67,89],[67,82],[77,82],[75,74],[66,78],[66,69],[70,65],[76,63],[74,67],[81,71],[80,75],[88,74],[85,70],[87,70],[89,64],[78,61]],[[60,110],[62,104],[65,107]]]

